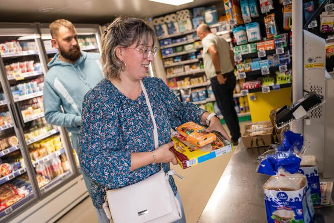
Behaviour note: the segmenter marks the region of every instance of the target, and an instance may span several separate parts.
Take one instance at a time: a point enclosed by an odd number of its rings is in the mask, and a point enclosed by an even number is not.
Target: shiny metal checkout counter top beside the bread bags
[[[256,172],[266,148],[237,146],[198,222],[267,222],[263,185],[269,176]],[[331,194],[334,199],[333,193]],[[314,222],[334,222],[334,206],[314,208]]]

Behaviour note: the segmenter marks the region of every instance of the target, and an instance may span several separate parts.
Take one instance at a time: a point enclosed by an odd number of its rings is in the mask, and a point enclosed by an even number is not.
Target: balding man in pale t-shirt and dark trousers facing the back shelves
[[[236,145],[241,134],[233,100],[236,84],[233,51],[223,38],[211,33],[206,24],[197,28],[197,36],[202,40],[205,74],[211,81],[218,108],[230,130],[233,145]]]

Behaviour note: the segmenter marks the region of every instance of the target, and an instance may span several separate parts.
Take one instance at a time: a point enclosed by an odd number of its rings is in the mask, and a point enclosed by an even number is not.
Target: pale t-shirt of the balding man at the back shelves
[[[203,45],[203,63],[205,74],[208,79],[216,77],[216,70],[213,65],[211,55],[209,53],[209,47],[215,45],[219,58],[220,58],[220,70],[222,73],[228,73],[233,70],[233,66],[230,59],[230,46],[226,40],[220,38],[214,33],[208,34],[202,39]]]

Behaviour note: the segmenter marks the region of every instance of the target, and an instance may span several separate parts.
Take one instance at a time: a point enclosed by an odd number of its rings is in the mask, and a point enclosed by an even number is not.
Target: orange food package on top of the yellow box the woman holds
[[[186,140],[199,147],[216,140],[216,135],[205,132],[205,128],[195,122],[187,122],[176,129],[179,134],[186,137]]]

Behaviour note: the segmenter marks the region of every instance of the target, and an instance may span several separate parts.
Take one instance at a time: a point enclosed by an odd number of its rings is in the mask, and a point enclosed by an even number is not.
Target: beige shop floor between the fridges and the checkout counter
[[[240,122],[241,133],[243,133],[245,123],[248,122]],[[226,125],[224,127],[227,128]],[[182,198],[187,223],[197,222],[231,156],[232,153],[229,153],[185,170],[179,165],[171,167],[178,174],[186,177],[183,181],[175,178],[175,181]],[[86,198],[57,222],[94,223],[98,222],[98,219],[91,199]]]

